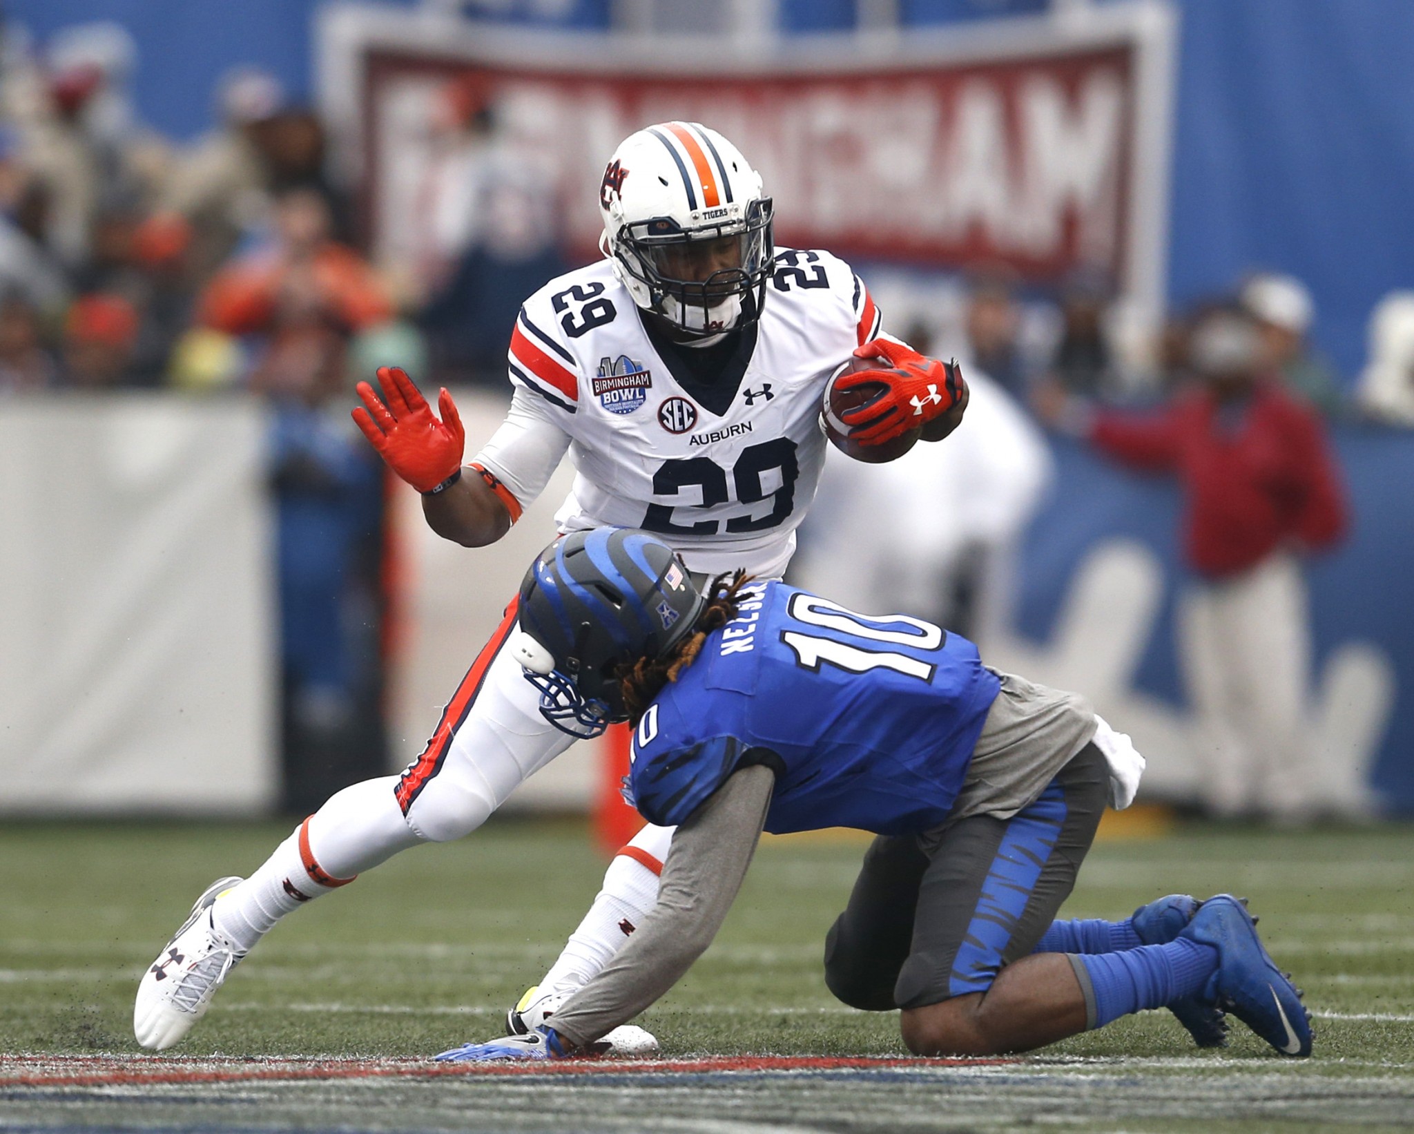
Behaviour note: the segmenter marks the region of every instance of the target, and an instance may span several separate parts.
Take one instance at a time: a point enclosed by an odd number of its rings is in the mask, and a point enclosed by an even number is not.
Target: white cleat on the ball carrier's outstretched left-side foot
[[[144,1048],[160,1052],[185,1038],[206,1014],[226,974],[245,957],[211,920],[216,898],[240,881],[221,878],[206,887],[191,916],[143,973],[133,1005],[133,1034]]]

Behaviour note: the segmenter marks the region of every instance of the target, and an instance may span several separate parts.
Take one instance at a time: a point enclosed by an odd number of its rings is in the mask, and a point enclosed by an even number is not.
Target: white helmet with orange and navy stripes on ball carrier
[[[761,174],[715,130],[629,134],[600,182],[600,246],[633,303],[690,335],[761,317],[775,247]]]

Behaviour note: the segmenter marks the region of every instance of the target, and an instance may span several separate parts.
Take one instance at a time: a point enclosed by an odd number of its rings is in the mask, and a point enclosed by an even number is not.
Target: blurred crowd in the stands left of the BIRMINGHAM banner
[[[110,24],[0,57],[0,390],[245,386],[317,404],[397,311],[351,247],[320,119],[225,78],[188,147],[134,116]]]

